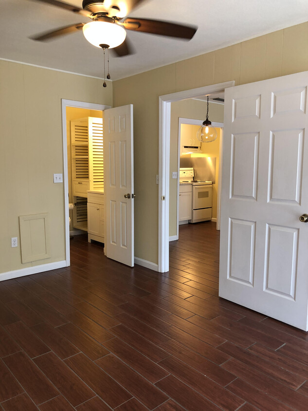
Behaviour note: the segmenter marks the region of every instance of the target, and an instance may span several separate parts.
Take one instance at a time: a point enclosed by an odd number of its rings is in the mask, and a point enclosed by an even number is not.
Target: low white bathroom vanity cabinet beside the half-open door
[[[103,190],[88,190],[88,242],[105,242],[105,205]]]

